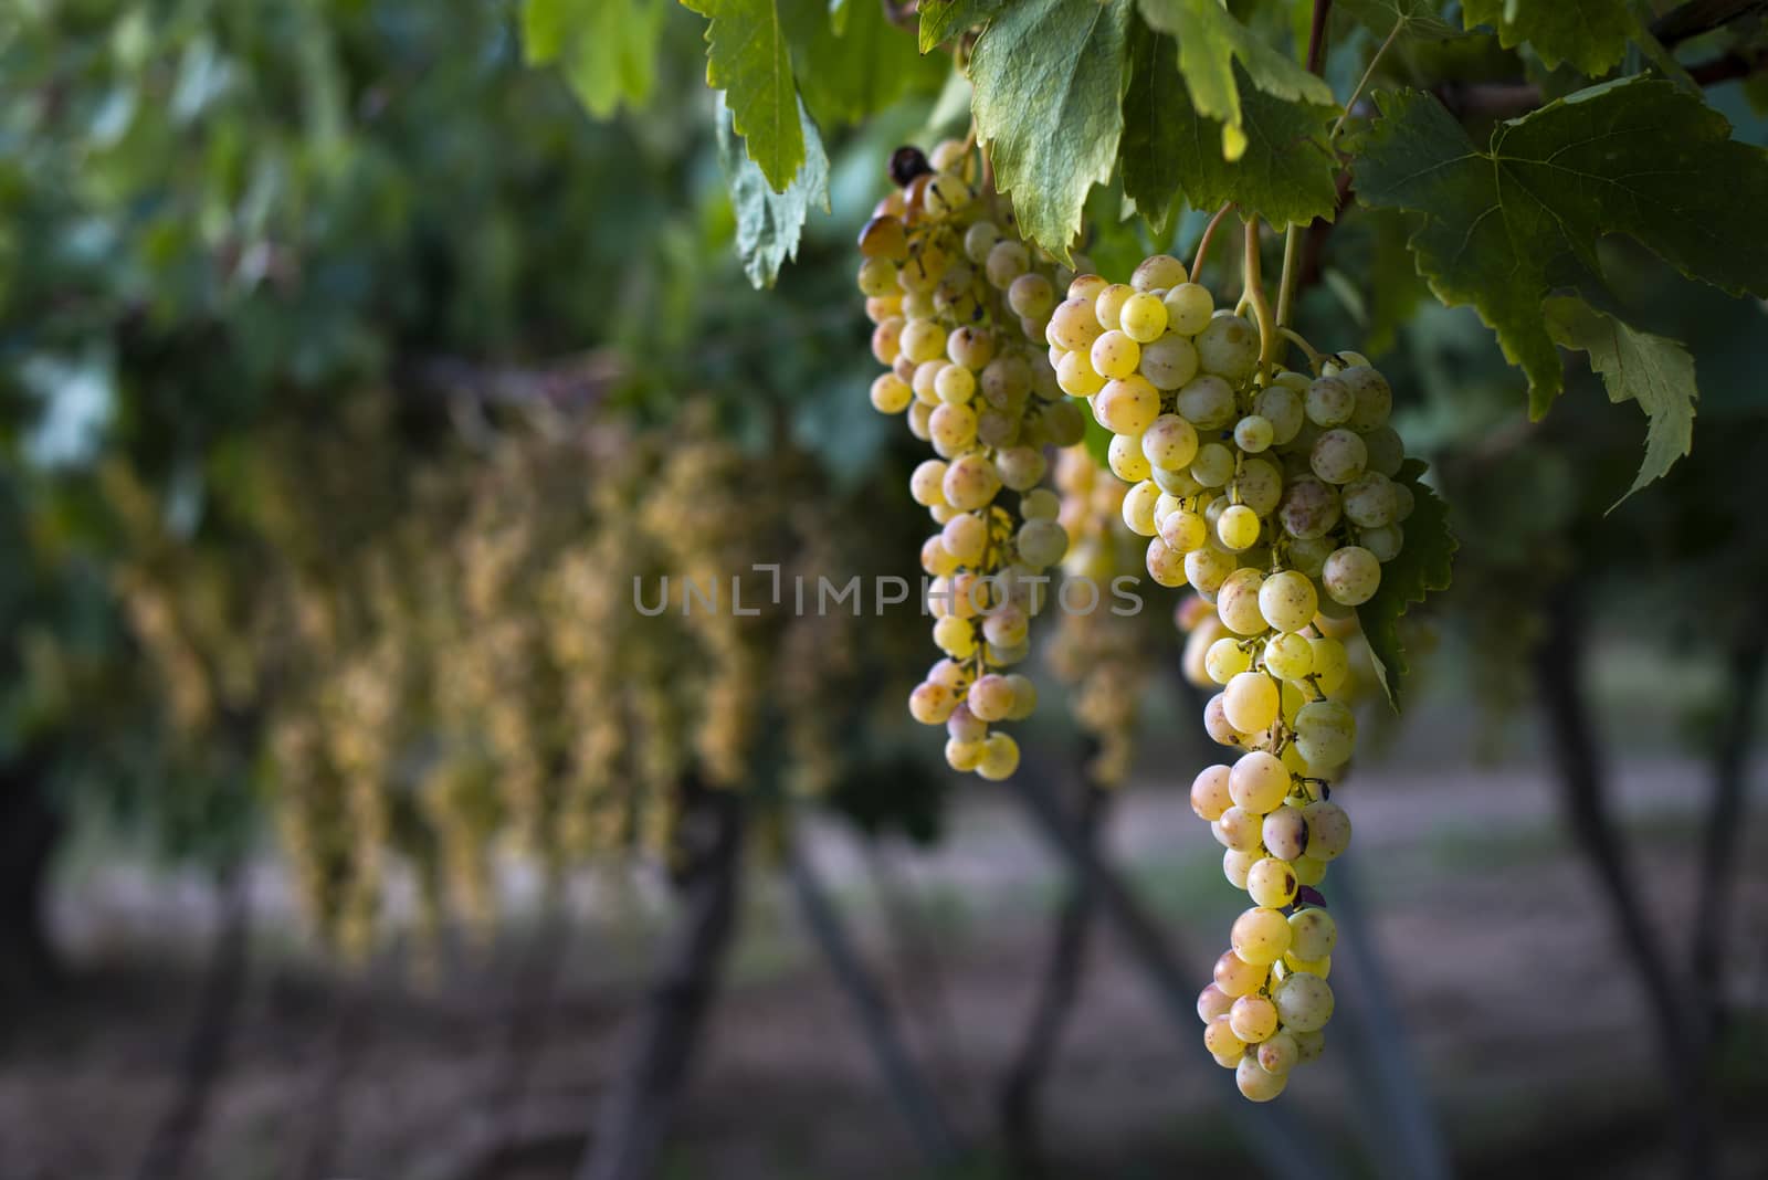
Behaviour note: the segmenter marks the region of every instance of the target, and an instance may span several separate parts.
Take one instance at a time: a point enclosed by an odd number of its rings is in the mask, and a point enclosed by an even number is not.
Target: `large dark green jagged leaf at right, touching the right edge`
[[[1529,378],[1540,417],[1565,387],[1542,300],[1602,286],[1597,240],[1625,233],[1690,277],[1768,295],[1768,152],[1669,81],[1589,87],[1492,131],[1480,150],[1434,97],[1377,94],[1354,163],[1358,200],[1423,214],[1418,272],[1473,304]]]

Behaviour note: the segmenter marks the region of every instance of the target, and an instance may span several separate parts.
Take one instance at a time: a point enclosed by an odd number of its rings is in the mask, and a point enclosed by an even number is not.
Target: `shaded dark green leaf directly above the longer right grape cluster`
[[[1160,111],[1163,148],[1192,208],[1215,210],[1232,200],[1243,214],[1259,214],[1278,226],[1330,219],[1338,207],[1335,161],[1326,147],[1335,110],[1250,90],[1241,101],[1246,150],[1229,163],[1216,147],[1222,124],[1199,115],[1179,92]],[[1128,134],[1124,145],[1128,168]]]

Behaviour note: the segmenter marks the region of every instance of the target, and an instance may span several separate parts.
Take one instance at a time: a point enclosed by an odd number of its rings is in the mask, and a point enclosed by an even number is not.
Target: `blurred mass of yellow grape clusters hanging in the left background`
[[[405,871],[419,922],[484,929],[500,857],[672,860],[690,775],[778,775],[774,800],[845,772],[852,715],[785,703],[863,700],[859,664],[903,636],[790,611],[751,567],[778,562],[789,595],[852,565],[863,530],[806,456],[737,447],[700,410],[423,459],[394,450],[391,415],[292,431],[253,458],[269,514],[249,560],[161,539],[152,496],[120,496],[141,530],[120,588],[180,737],[263,742],[272,818],[331,942],[364,952]],[[332,486],[339,472],[396,475]],[[654,606],[665,576],[668,609],[640,616],[635,579]],[[684,613],[690,576],[720,609]]]

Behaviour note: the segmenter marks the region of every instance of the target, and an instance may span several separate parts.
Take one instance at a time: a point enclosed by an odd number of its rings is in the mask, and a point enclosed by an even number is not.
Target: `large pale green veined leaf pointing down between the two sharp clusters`
[[[1110,180],[1123,136],[1132,0],[1020,0],[971,57],[976,134],[1020,230],[1068,260],[1087,189]]]

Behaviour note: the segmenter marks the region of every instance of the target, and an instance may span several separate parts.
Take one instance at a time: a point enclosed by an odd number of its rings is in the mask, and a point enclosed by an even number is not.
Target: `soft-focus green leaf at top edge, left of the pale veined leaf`
[[[849,12],[847,30],[829,21],[827,0],[776,0],[792,44],[797,92],[822,127],[854,124],[911,88],[937,87],[946,65],[921,58],[914,41],[884,19],[875,0]]]

